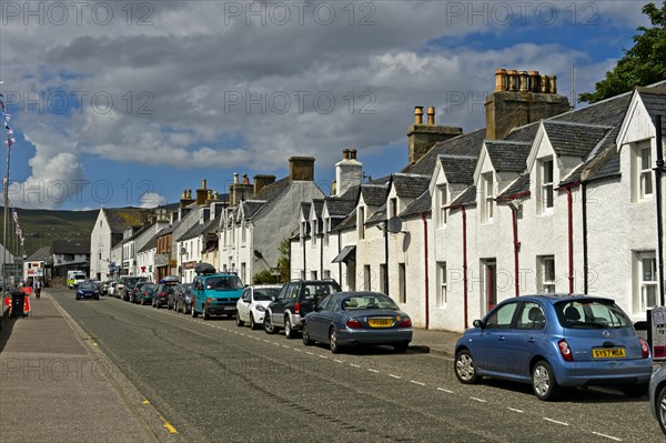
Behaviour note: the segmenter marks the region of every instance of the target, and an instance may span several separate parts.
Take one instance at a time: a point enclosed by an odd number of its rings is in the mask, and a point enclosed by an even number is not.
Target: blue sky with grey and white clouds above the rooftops
[[[286,177],[292,155],[329,193],[344,148],[389,175],[415,105],[483,128],[497,68],[556,74],[572,100],[575,67],[575,93],[594,90],[644,3],[1,0],[10,203],[155,207],[202,179]]]

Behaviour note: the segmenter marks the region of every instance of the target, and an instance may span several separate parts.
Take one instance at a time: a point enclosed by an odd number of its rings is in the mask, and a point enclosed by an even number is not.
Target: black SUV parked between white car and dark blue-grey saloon
[[[264,331],[275,334],[284,329],[287,339],[296,336],[301,322],[314,304],[324,296],[340,292],[335,280],[292,280],[280,290],[278,299],[266,308]]]

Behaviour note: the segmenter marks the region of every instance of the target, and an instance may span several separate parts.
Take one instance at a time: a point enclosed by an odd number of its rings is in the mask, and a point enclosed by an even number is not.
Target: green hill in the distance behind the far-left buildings
[[[26,239],[23,253],[30,255],[38,248],[50,246],[53,240],[90,240],[90,233],[99,210],[92,211],[50,211],[44,209],[17,208],[19,224]],[[2,242],[4,226],[4,210],[0,207],[0,243]],[[8,224],[9,250],[20,253],[17,246],[11,209],[9,210]]]

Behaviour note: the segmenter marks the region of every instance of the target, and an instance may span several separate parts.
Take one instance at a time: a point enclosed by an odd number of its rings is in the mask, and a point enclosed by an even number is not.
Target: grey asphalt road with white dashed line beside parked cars
[[[183,441],[664,441],[647,397],[575,390],[541,402],[527,385],[462,385],[442,356],[333,355],[233,320],[50,293]]]

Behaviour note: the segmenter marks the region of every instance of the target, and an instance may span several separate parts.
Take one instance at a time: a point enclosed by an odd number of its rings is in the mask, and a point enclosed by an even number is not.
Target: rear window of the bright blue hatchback
[[[563,328],[628,328],[632,321],[612,300],[572,300],[555,303],[557,320]]]

